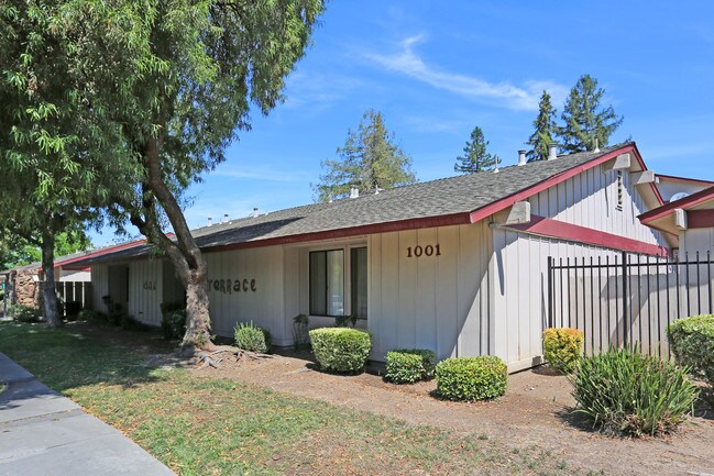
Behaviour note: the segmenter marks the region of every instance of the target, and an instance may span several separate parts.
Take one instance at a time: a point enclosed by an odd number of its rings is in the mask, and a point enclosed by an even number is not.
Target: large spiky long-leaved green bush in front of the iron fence
[[[569,376],[575,412],[607,433],[656,435],[681,423],[699,390],[689,369],[636,348],[611,350],[580,361]]]

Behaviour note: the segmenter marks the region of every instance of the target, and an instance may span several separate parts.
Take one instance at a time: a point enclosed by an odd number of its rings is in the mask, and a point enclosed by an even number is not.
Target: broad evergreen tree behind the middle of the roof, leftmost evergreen
[[[367,110],[356,131],[349,130],[344,146],[338,147],[338,159],[322,160],[327,169],[320,184],[314,186],[318,201],[344,198],[350,189],[386,189],[417,181],[411,157],[395,145],[382,112]]]

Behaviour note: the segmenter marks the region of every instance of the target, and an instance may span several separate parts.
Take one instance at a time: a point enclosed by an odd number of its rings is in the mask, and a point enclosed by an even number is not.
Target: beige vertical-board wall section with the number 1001
[[[399,347],[430,348],[440,359],[491,352],[491,236],[485,222],[370,236],[372,358]],[[440,256],[414,256],[416,246],[437,244]]]

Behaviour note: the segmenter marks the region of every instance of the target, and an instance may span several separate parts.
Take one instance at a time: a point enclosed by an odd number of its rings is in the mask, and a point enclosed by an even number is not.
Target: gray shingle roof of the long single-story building
[[[468,174],[393,188],[376,195],[363,193],[359,198],[345,198],[331,203],[310,203],[255,218],[204,226],[193,230],[191,233],[197,244],[206,248],[403,220],[470,213],[625,145],[629,144],[606,147],[600,152],[564,155],[554,160],[504,167],[497,174]],[[87,263],[131,258],[146,255],[149,252],[150,246],[141,245],[90,258]]]

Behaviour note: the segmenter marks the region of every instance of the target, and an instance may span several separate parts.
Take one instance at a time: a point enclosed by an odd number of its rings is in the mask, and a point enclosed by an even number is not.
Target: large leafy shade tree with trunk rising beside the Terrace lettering
[[[184,344],[210,347],[211,326],[207,264],[182,191],[224,160],[253,107],[266,114],[283,99],[322,9],[321,0],[84,0],[63,12],[88,107],[119,133],[121,147],[106,160],[138,166],[122,190],[110,190],[118,193],[108,217],[134,224],[174,264],[186,288]]]

